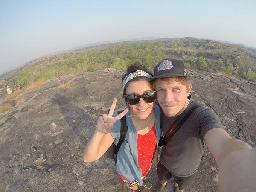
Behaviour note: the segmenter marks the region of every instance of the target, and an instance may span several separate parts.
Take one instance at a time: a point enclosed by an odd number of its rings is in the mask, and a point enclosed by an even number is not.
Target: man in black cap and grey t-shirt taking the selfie
[[[190,98],[192,85],[183,62],[175,59],[158,63],[151,79],[155,79],[165,135],[184,110],[196,103]],[[195,109],[163,147],[157,165],[160,182],[154,191],[161,192],[171,178],[175,180],[175,192],[186,188],[195,178],[206,146],[219,168],[220,191],[256,191],[256,148],[230,137],[206,106]]]

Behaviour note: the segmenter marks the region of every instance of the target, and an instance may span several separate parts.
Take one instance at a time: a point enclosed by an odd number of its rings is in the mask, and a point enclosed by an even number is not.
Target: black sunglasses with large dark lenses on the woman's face
[[[133,94],[126,94],[125,101],[129,105],[136,105],[140,102],[140,98],[142,98],[146,103],[152,103],[155,101],[156,97],[157,97],[157,94],[155,91],[146,92],[141,95],[133,93]]]

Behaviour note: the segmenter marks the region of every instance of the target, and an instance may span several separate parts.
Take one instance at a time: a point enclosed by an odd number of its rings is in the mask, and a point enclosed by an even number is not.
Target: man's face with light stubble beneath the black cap
[[[167,117],[174,117],[189,103],[189,96],[192,85],[186,85],[175,81],[173,78],[156,79],[155,90],[157,101]]]

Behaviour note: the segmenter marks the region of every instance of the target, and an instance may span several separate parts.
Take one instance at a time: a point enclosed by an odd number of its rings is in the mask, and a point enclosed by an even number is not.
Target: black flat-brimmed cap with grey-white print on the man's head
[[[154,75],[148,80],[165,77],[187,77],[183,61],[163,59],[154,67]]]

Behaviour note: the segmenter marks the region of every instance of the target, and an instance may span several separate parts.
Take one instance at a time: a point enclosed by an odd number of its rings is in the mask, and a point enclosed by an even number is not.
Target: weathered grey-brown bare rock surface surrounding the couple
[[[18,107],[0,113],[0,191],[131,191],[117,176],[112,160],[83,162],[84,146],[98,116],[110,108],[114,97],[117,108],[125,106],[123,72],[104,69],[49,79],[19,95],[24,101]],[[212,108],[230,135],[256,146],[256,84],[207,72],[189,74],[194,99]],[[68,81],[70,87],[60,86]],[[149,180],[157,182],[155,169]],[[165,191],[172,192],[173,185],[170,181]],[[208,150],[186,191],[218,191],[218,169]]]

